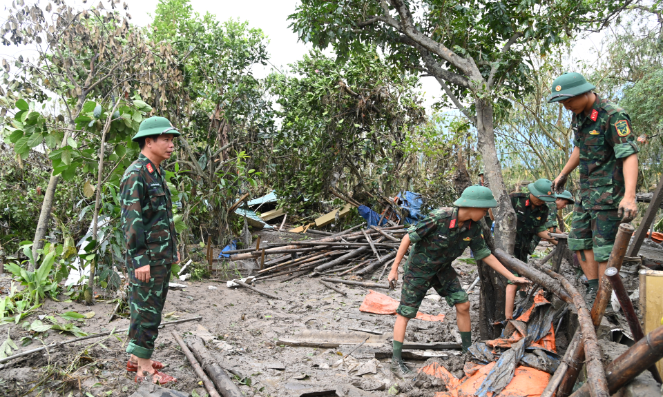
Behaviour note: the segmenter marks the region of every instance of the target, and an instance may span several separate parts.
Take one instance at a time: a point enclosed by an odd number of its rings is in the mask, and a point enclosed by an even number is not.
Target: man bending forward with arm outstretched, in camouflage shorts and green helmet
[[[497,201],[488,187],[470,186],[454,202],[455,207],[433,210],[426,218],[410,227],[405,234],[401,246],[389,273],[390,288],[396,287],[398,281],[398,265],[405,252],[414,243],[410,256],[403,266],[403,287],[401,304],[396,313],[394,325],[394,356],[392,372],[401,378],[414,374],[410,367],[403,363],[401,350],[405,338],[405,328],[410,318],[416,316],[421,301],[430,289],[445,298],[450,306],[456,307],[456,318],[463,349],[467,351],[472,343],[470,332],[470,302],[468,294],[463,291],[456,271],[451,266],[454,259],[470,247],[474,258],[485,262],[508,280],[518,284],[529,284],[526,278],[513,276],[497,258],[488,250],[483,241],[481,226],[478,221],[486,216],[488,208],[496,207]]]

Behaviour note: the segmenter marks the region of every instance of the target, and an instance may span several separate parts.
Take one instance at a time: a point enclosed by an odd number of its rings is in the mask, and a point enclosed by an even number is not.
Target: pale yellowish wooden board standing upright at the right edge
[[[644,322],[644,334],[660,327],[663,317],[663,272],[640,270],[640,309]],[[656,363],[663,373],[663,360]]]

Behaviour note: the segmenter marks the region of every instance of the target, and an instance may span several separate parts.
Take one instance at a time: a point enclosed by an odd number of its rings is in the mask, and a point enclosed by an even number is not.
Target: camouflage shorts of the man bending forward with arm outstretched
[[[403,275],[403,288],[401,289],[401,304],[398,305],[396,313],[403,317],[414,318],[419,311],[419,305],[423,301],[428,289],[433,287],[435,291],[445,298],[445,301],[453,307],[457,303],[470,301],[467,292],[463,291],[461,282],[458,280],[456,270],[445,266],[432,276],[422,274],[416,266],[405,268]]]

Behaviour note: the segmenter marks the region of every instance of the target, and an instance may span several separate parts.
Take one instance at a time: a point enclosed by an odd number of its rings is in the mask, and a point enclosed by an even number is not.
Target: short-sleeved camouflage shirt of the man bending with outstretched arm
[[[432,269],[450,266],[454,259],[463,254],[465,248],[472,248],[474,259],[483,259],[490,250],[483,241],[481,225],[465,221],[458,227],[458,207],[445,207],[432,210],[428,216],[407,230],[414,243],[407,265],[425,265]]]

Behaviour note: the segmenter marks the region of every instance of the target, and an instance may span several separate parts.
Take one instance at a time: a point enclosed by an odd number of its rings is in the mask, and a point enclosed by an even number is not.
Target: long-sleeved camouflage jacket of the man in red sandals
[[[177,262],[171,192],[163,178],[164,167],[160,167],[161,173],[155,168],[140,154],[119,186],[128,269]]]

